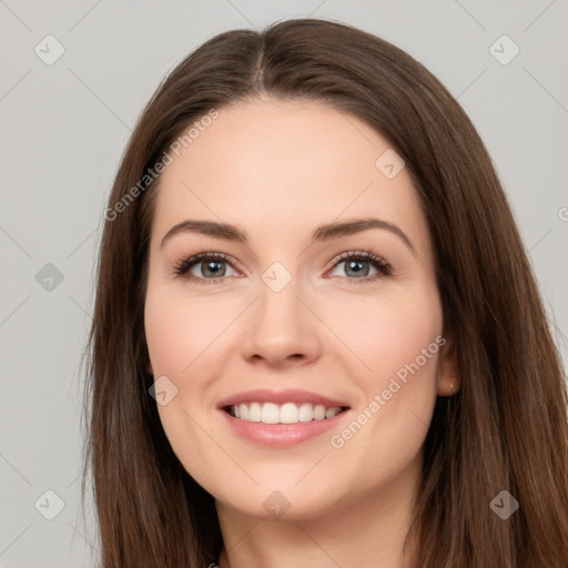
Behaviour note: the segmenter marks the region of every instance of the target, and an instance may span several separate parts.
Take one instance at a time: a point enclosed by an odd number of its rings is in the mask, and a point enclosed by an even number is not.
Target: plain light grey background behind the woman
[[[79,361],[105,200],[143,104],[216,33],[310,16],[395,43],[458,99],[566,359],[566,0],[0,0],[0,568],[94,566],[92,510],[84,524],[79,499]]]

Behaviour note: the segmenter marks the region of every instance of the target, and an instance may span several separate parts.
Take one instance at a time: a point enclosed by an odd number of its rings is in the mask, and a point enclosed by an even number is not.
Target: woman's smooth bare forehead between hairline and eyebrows
[[[379,216],[426,242],[407,169],[394,178],[382,170],[382,156],[392,152],[364,121],[323,102],[241,101],[219,109],[179,156],[171,154],[153,233],[200,219],[243,226],[251,237],[268,230],[284,236],[342,217]]]

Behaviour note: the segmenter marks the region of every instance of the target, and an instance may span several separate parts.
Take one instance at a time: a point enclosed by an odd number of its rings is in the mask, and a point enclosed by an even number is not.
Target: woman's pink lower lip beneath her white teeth
[[[262,422],[242,420],[231,416],[225,410],[220,410],[233,430],[250,442],[273,448],[295,446],[306,439],[320,436],[325,432],[337,427],[341,420],[348,414],[348,409],[336,414],[333,418],[324,420],[298,422],[296,424],[264,424]]]

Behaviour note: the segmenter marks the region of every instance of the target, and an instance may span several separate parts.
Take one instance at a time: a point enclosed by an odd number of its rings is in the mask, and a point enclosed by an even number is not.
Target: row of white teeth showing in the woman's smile
[[[264,424],[297,424],[298,422],[324,420],[342,412],[339,406],[326,408],[323,404],[303,403],[300,407],[294,403],[278,406],[274,403],[247,403],[231,407],[236,418]]]

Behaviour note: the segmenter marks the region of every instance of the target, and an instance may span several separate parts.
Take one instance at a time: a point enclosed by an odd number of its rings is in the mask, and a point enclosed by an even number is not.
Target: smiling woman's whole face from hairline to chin
[[[179,153],[144,316],[184,468],[252,516],[407,495],[450,373],[404,162],[351,114],[273,99],[221,109]]]

